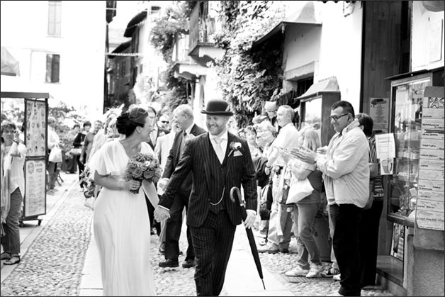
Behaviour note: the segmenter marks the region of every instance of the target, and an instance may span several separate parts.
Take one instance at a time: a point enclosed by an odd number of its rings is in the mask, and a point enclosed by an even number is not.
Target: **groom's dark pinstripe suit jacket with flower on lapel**
[[[167,189],[162,195],[159,205],[170,208],[174,194],[181,189],[182,181],[188,172],[193,174],[193,186],[188,201],[187,225],[199,227],[203,224],[210,211],[210,201],[220,200],[223,191],[220,184],[225,183],[224,203],[225,209],[234,225],[241,223],[241,213],[238,206],[230,200],[230,189],[237,186],[244,189],[246,209],[257,209],[257,181],[254,165],[250,155],[247,141],[228,133],[227,149],[225,152],[226,176],[221,176],[221,164],[212,162],[210,154],[215,154],[210,143],[209,134],[203,133],[196,138],[188,140],[184,153],[170,177]],[[236,154],[230,149],[230,143],[240,142],[242,147]],[[240,155],[240,153],[242,155]],[[236,156],[235,156],[236,155]]]

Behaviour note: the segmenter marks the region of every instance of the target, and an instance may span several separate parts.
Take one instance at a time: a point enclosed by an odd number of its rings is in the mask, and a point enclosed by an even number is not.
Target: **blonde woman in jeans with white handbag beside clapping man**
[[[312,150],[315,152],[318,147],[321,147],[320,137],[316,130],[308,128],[301,131],[300,137],[301,148],[293,148],[291,155],[298,149]],[[315,215],[321,202],[321,190],[322,190],[322,173],[315,168],[315,164],[308,164],[301,162],[298,159],[292,159],[288,162],[288,167],[292,172],[292,179],[298,179],[310,182],[312,186],[312,193],[305,193],[304,198],[295,203],[293,208],[294,218],[294,230],[298,229],[297,238],[297,265],[291,271],[286,272],[286,276],[305,276],[307,278],[318,277],[323,269],[323,265],[320,259],[320,250],[318,248],[315,237],[312,233],[312,226],[315,222]],[[292,187],[291,181],[291,187]],[[303,185],[294,186],[289,190],[288,198],[291,198],[292,191],[299,191],[303,189]]]

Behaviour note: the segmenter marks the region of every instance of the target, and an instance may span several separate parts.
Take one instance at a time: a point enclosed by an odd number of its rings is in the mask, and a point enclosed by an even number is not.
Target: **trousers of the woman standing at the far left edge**
[[[3,224],[6,234],[1,237],[1,245],[4,252],[9,252],[10,254],[20,254],[19,220],[22,200],[20,189],[17,188],[11,193],[11,207],[6,217],[6,224]]]

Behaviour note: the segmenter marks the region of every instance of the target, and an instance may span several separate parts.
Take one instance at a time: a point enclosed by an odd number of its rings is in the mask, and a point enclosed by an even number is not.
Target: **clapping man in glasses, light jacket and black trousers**
[[[369,195],[368,140],[354,108],[348,101],[331,107],[331,124],[337,132],[327,146],[326,155],[293,150],[303,162],[317,164],[325,181],[329,215],[334,236],[332,244],[341,272],[339,294],[360,296],[359,226]]]

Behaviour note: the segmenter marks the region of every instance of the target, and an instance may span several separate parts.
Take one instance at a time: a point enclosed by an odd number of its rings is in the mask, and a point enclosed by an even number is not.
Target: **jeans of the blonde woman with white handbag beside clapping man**
[[[297,264],[303,269],[309,269],[312,263],[317,265],[322,264],[320,261],[320,250],[312,233],[317,211],[317,203],[297,203],[293,209],[294,224],[297,225],[296,229],[298,230],[298,236],[295,234],[297,237]]]

